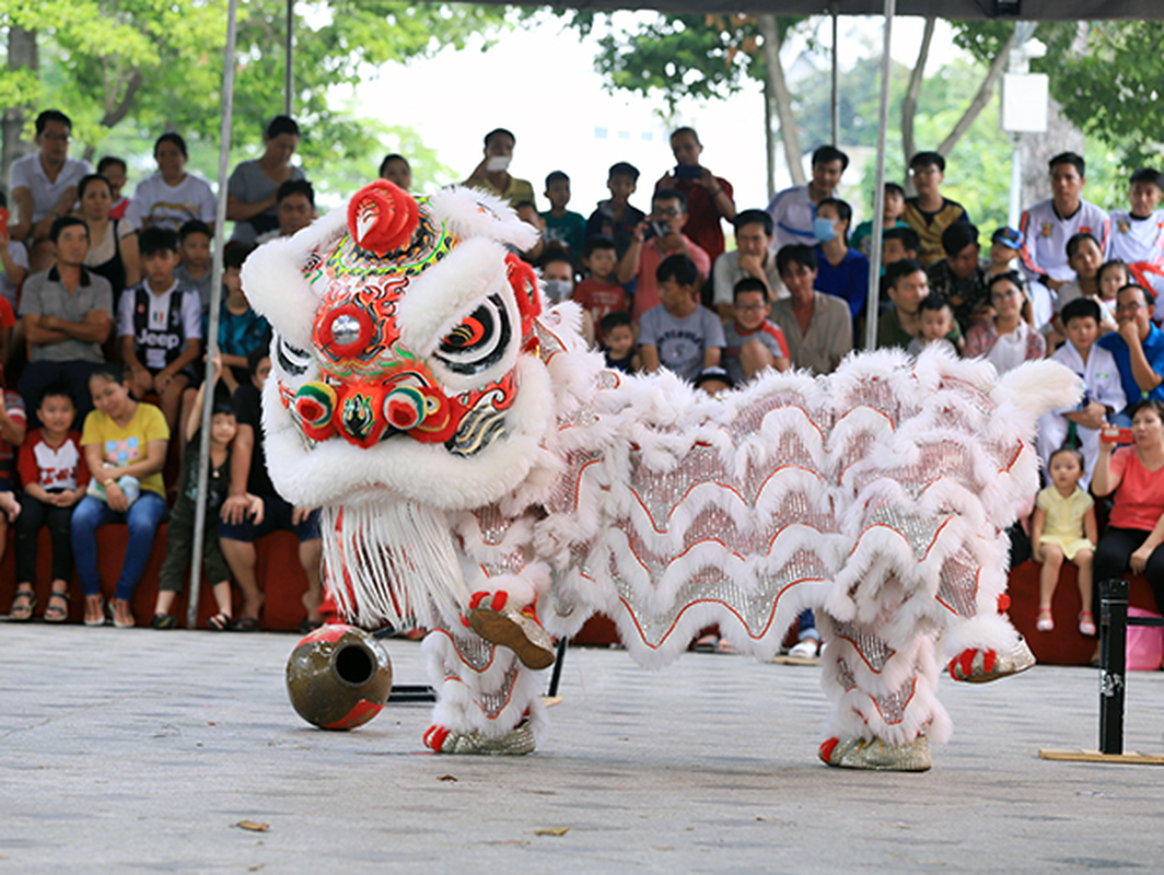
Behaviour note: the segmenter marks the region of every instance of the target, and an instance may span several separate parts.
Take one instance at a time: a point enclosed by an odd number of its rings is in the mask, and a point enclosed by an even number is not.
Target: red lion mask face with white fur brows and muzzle
[[[243,285],[275,328],[268,442],[293,429],[305,469],[384,485],[402,465],[446,476],[433,454],[498,461],[506,444],[535,437],[548,420],[519,399],[552,397],[538,356],[541,297],[512,251],[534,234],[480,192],[417,200],[377,180],[347,211],[256,250]]]

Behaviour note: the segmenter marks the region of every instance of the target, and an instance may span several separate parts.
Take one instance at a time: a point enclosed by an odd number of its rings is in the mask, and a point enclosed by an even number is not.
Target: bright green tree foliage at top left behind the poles
[[[329,170],[368,159],[375,168],[391,125],[388,115],[357,119],[332,86],[474,37],[488,44],[514,20],[501,7],[459,3],[321,0],[304,9],[294,24],[293,113],[306,131],[304,162]],[[149,131],[149,144],[163,130],[215,142],[226,10],[226,0],[0,0],[0,29],[35,30],[44,67],[43,77],[0,69],[0,95],[8,106],[64,108],[78,152],[92,154],[121,125]],[[285,14],[284,0],[239,6],[232,142],[242,155],[260,151],[263,126],[283,111]],[[207,170],[217,173],[217,162]]]

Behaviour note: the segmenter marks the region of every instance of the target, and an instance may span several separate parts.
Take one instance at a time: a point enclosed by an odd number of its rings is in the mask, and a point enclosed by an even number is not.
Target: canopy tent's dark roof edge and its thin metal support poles
[[[506,3],[505,0],[468,0],[475,3],[509,6],[549,6],[566,9],[594,9],[613,12],[618,9],[654,9],[662,13],[774,13],[778,15],[831,15],[833,22],[839,15],[880,15],[885,19],[882,40],[880,113],[878,123],[876,171],[874,180],[873,229],[872,229],[872,264],[870,270],[870,289],[867,312],[866,341],[870,348],[876,336],[876,296],[881,261],[882,201],[885,195],[885,148],[886,128],[888,127],[888,72],[889,44],[895,15],[936,16],[947,20],[1010,20],[1010,21],[1088,21],[1103,19],[1128,19],[1134,21],[1164,21],[1164,2],[1162,0],[769,0],[746,6],[739,0],[582,0],[580,2],[540,2]],[[234,101],[235,67],[235,29],[237,0],[229,0],[227,20],[227,45],[223,57],[222,77],[222,125],[219,143],[219,178],[226,179],[228,172],[228,155],[230,150],[230,114]],[[292,114],[292,72],[293,64],[293,21],[294,0],[286,0],[286,76],[285,112]],[[833,30],[836,45],[836,29]],[[833,57],[833,137],[837,134],[836,122],[836,57]],[[214,264],[212,276],[222,272],[222,243],[226,226],[225,185],[219,186],[219,202],[214,226]],[[214,284],[211,292],[211,325],[208,330],[207,361],[218,348],[218,313],[221,289]],[[210,368],[210,365],[207,365]],[[210,376],[207,374],[207,376]],[[213,393],[205,393],[203,407],[203,434],[210,434]],[[205,519],[206,483],[210,470],[210,441],[201,442],[201,457],[198,467],[198,512],[196,515],[194,546],[191,560],[190,604],[186,625],[193,628],[198,617],[198,602],[201,584],[201,545],[205,538],[203,521]]]

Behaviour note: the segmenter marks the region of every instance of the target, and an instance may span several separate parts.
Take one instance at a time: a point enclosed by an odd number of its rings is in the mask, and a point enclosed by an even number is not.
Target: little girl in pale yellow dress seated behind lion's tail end
[[[1095,634],[1091,612],[1092,556],[1098,532],[1095,501],[1079,486],[1084,476],[1084,457],[1073,447],[1062,447],[1051,454],[1051,485],[1035,499],[1035,517],[1030,525],[1031,556],[1042,562],[1038,575],[1038,619],[1035,628],[1055,628],[1051,598],[1059,585],[1063,562],[1079,568],[1079,631]]]

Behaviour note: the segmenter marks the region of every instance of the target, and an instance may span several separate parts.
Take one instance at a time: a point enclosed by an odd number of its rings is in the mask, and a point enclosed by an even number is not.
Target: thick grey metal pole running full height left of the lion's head
[[[186,607],[186,628],[198,625],[198,602],[203,584],[203,543],[206,539],[206,482],[210,479],[211,412],[214,410],[214,365],[218,355],[219,307],[222,300],[222,237],[226,227],[226,180],[230,164],[230,120],[234,115],[234,45],[239,0],[230,0],[226,21],[226,57],[222,62],[222,125],[219,128],[219,191],[214,212],[214,261],[211,265],[211,319],[206,330],[206,376],[203,391],[201,442],[198,446],[198,497],[194,512],[194,549],[190,557],[190,604]],[[185,422],[178,424],[185,428]],[[217,538],[218,533],[211,535]],[[219,581],[211,581],[212,584]]]

